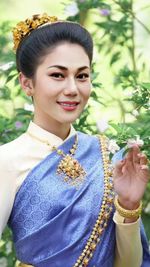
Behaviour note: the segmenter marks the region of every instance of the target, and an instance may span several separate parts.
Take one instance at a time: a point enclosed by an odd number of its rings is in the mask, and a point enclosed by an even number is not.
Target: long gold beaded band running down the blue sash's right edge
[[[73,267],[89,266],[89,262],[94,255],[97,245],[101,241],[101,236],[108,225],[108,221],[113,210],[114,191],[112,182],[112,166],[108,154],[108,139],[102,135],[99,136],[99,142],[102,151],[104,169],[104,194],[102,204],[96,223],[91,231],[91,235]]]

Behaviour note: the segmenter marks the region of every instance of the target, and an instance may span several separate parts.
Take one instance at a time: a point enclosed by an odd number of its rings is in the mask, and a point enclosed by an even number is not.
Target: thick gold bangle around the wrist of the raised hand
[[[118,201],[118,196],[116,196],[114,199],[114,205],[118,213],[124,218],[128,218],[128,219],[137,218],[137,217],[140,217],[142,213],[142,201],[140,201],[140,205],[137,209],[126,210],[120,206],[119,201]]]

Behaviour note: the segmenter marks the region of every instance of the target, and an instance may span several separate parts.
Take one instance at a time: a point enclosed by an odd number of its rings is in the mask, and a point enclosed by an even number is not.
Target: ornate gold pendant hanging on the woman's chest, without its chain
[[[84,180],[86,172],[76,159],[67,154],[60,161],[57,167],[57,174],[65,175],[65,182],[68,182],[70,185],[77,186]]]

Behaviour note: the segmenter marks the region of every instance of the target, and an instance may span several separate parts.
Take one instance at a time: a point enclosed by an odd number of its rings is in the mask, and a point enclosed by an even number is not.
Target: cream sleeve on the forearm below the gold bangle
[[[142,263],[140,219],[134,223],[123,223],[116,211],[113,217],[116,224],[116,251],[114,267],[139,267]]]

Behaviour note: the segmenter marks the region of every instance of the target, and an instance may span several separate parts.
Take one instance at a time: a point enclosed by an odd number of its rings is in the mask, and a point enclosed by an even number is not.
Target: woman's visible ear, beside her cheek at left
[[[27,96],[34,95],[34,86],[31,78],[27,78],[22,72],[19,73],[19,82]]]

